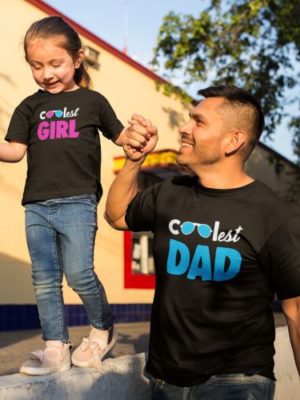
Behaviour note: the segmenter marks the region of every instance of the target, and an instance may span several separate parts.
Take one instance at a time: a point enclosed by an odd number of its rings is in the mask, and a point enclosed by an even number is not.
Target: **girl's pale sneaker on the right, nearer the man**
[[[115,328],[111,328],[108,332],[107,344],[99,343],[98,338],[92,332],[89,337],[83,338],[81,344],[72,354],[72,364],[81,368],[101,369],[102,360],[105,355],[112,349],[118,338]]]

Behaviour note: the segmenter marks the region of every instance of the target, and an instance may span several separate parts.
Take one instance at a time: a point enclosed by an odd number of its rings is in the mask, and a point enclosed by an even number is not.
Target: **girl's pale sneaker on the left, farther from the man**
[[[22,364],[20,372],[27,375],[48,375],[56,371],[66,371],[71,368],[70,348],[69,343],[49,340],[44,350],[30,353],[30,358]]]

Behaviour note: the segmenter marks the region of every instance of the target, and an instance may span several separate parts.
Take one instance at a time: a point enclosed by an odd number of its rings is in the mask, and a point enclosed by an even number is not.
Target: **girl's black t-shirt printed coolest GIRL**
[[[123,129],[107,99],[89,89],[39,90],[16,108],[6,140],[28,145],[22,204],[95,193],[101,197],[101,130],[116,139]]]

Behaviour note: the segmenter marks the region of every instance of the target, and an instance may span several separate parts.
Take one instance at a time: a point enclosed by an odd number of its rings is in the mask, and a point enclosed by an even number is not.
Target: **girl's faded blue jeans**
[[[25,205],[32,280],[44,340],[68,342],[62,278],[79,295],[90,323],[109,329],[113,318],[94,272],[97,199],[81,195]]]

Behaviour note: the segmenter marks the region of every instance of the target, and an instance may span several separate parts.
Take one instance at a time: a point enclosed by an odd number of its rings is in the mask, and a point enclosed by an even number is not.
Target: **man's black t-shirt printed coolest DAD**
[[[300,295],[299,217],[259,181],[217,190],[177,177],[138,193],[126,221],[154,232],[148,372],[179,386],[273,378],[271,304]]]

